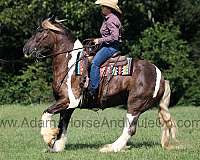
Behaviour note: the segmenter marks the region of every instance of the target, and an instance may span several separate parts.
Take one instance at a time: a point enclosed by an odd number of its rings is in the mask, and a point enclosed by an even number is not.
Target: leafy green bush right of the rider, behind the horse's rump
[[[156,23],[132,46],[133,56],[153,62],[171,82],[173,104],[184,96],[196,75],[193,62],[188,59],[190,51],[187,42],[180,39],[179,28],[173,24]]]

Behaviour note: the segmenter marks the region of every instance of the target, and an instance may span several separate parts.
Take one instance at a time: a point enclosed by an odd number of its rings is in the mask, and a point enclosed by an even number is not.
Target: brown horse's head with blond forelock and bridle
[[[55,20],[55,17],[45,19],[24,45],[25,56],[37,57],[38,54],[49,53],[56,44],[55,35],[63,32],[64,28]]]

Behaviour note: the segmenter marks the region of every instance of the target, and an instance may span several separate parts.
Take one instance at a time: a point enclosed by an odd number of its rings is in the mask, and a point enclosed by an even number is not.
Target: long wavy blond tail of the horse
[[[172,146],[169,144],[170,136],[172,139],[176,141],[176,123],[172,119],[169,113],[169,103],[170,103],[170,95],[171,89],[169,85],[169,81],[165,80],[165,91],[163,97],[160,101],[160,108],[159,108],[159,118],[161,123],[161,145],[165,149],[169,149]]]

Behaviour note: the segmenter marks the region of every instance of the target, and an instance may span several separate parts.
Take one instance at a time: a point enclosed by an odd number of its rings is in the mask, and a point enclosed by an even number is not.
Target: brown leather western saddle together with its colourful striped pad
[[[77,60],[78,58],[79,57],[77,57]],[[84,88],[81,108],[88,108],[88,106],[91,106],[90,109],[98,108],[97,106],[99,106],[99,104],[101,104],[101,102],[105,98],[101,97],[103,95],[103,92],[108,91],[108,85],[100,83],[98,96],[96,97],[96,99],[91,100],[90,97],[87,96],[87,87],[89,84],[89,70],[85,66],[86,64],[91,64],[92,59],[93,57],[88,57],[87,60],[78,61],[78,63],[76,64],[76,75],[82,75],[80,86]],[[121,56],[121,52],[116,52],[111,58],[109,58],[100,66],[100,77],[101,79],[103,79],[104,82],[106,81],[106,84],[108,84],[113,76],[130,76],[132,74],[131,68],[132,58]],[[106,95],[106,93],[104,94]]]

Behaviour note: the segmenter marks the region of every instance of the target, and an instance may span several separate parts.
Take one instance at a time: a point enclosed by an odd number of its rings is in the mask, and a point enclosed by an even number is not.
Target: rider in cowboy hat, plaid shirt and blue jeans
[[[101,49],[94,56],[90,71],[88,93],[93,99],[97,95],[100,83],[100,65],[119,51],[122,28],[122,11],[117,5],[118,0],[97,0],[95,4],[101,5],[104,21],[100,29],[101,38],[94,39],[95,44],[101,44]]]

